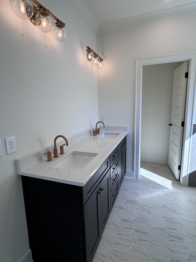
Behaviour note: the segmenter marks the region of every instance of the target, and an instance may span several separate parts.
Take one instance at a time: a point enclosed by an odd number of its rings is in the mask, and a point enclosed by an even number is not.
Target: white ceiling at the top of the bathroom
[[[71,2],[81,13],[81,6],[76,6],[78,1]],[[97,22],[97,33],[196,14],[193,0],[83,0],[83,3]]]

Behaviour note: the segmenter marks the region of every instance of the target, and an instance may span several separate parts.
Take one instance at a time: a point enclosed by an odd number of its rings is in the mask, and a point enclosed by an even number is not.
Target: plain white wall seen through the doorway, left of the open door
[[[143,66],[141,160],[168,163],[174,70],[182,62]]]

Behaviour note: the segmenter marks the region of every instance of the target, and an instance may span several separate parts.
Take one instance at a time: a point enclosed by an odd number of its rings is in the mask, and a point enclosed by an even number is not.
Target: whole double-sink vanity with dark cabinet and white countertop
[[[93,260],[126,172],[127,127],[101,130],[68,139],[52,161],[54,146],[17,159],[34,262]]]

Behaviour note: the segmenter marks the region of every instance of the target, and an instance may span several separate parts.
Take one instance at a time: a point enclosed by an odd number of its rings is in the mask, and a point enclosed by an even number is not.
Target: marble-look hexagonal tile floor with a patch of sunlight
[[[93,262],[196,262],[196,188],[167,164],[124,178]]]

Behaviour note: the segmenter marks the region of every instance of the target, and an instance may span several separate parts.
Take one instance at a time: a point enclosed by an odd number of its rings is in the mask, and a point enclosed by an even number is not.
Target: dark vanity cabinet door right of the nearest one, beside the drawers
[[[104,191],[103,191],[104,190]],[[107,172],[105,177],[100,183],[101,195],[101,226],[102,233],[110,215],[110,171]]]

